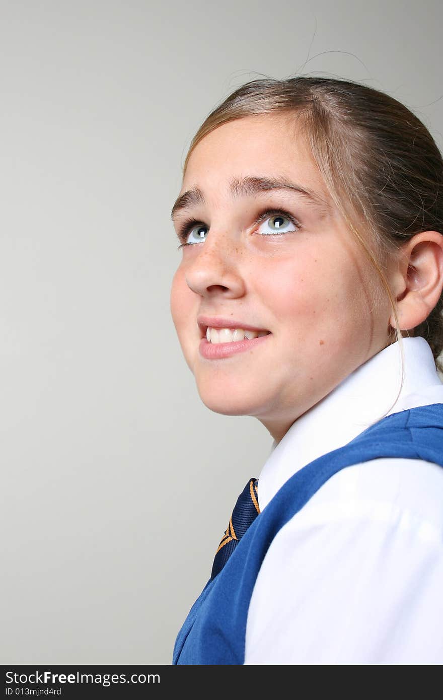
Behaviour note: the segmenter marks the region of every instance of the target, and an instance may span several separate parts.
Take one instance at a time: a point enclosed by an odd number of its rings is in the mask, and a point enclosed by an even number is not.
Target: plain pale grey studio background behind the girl
[[[363,80],[442,146],[440,0],[1,1],[3,664],[169,664],[272,440],[169,312],[190,139],[246,80]]]

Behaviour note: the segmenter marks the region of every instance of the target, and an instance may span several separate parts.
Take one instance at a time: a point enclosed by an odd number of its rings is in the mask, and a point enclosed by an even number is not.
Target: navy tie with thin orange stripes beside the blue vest
[[[260,513],[257,497],[258,479],[249,479],[234,506],[229,524],[214,557],[211,580],[223,569],[239,540]]]

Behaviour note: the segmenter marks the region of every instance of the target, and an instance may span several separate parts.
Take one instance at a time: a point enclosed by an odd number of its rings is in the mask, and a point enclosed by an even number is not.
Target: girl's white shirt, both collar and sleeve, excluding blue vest
[[[304,465],[377,419],[443,403],[425,339],[393,343],[300,416],[259,477],[264,510]],[[443,468],[379,458],[340,470],[281,528],[258,573],[245,664],[442,664]]]

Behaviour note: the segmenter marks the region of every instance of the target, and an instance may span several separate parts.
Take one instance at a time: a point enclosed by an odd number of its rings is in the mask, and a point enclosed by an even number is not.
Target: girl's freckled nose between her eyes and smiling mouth
[[[234,240],[229,232],[211,231],[203,243],[194,245],[198,250],[185,272],[188,287],[202,297],[243,296],[241,241]]]

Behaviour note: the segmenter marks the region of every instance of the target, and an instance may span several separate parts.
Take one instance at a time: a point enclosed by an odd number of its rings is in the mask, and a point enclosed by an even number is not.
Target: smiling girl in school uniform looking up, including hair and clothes
[[[171,313],[209,409],[274,438],[174,664],[443,662],[443,162],[405,106],[252,80],[199,128]]]

